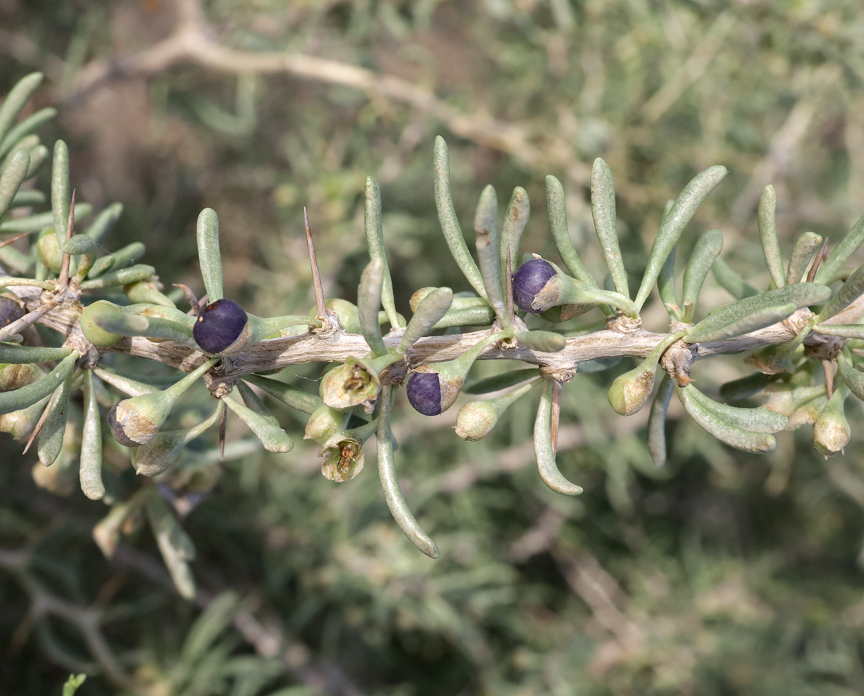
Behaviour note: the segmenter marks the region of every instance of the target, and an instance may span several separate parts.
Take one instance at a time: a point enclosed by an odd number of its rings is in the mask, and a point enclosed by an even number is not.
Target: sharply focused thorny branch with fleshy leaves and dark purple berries
[[[194,545],[163,500],[162,487],[143,485],[132,495],[118,495],[116,473],[103,467],[103,448],[111,439],[129,447],[137,473],[157,482],[187,480],[195,470],[183,463],[184,448],[217,425],[224,444],[231,412],[267,450],[287,452],[292,439],[262,394],[308,415],[303,437],[321,446],[322,472],[333,481],[359,474],[364,444],[375,433],[378,471],[391,512],[409,539],[432,558],[439,555],[438,548],[410,513],[397,482],[391,434],[394,397],[404,384],[417,411],[446,411],[463,391],[476,360],[519,360],[536,367],[468,382],[469,393],[510,391],[463,405],[456,418],[457,434],[468,441],[485,437],[509,405],[538,386],[538,469],[543,482],[566,495],[579,494],[581,488],[556,466],[559,405],[562,385],[583,361],[643,359],[609,389],[609,402],[622,415],[645,405],[661,372],[648,429],[658,465],[665,458],[664,419],[673,391],[702,428],[740,450],[772,450],[777,444],[774,433],[805,423],[814,425],[814,445],[825,455],[848,442],[844,401],[849,393],[864,399],[857,352],[864,347],[864,324],[857,323],[864,314],[864,266],[854,271],[843,266],[864,242],[864,220],[830,253],[827,239],[805,233],[784,267],[769,186],[759,204],[759,235],[771,286],[759,291],[740,278],[719,257],[720,231],[709,230],[694,247],[679,292],[673,272],[677,241],[696,208],[726,175],[725,168],[711,167],[670,203],[633,295],[621,261],[613,177],[606,163],[597,159],[591,177],[594,226],[610,279],[604,288],[571,242],[564,192],[554,176],[546,179],[547,208],[563,267],[537,255],[519,256],[529,213],[527,195],[519,188],[503,227],[494,189],[483,190],[474,219],[475,260],[456,218],[447,147],[439,137],[434,155],[438,216],[449,250],[473,292],[422,288],[411,297],[410,320],[397,313],[380,193],[378,184],[368,179],[365,235],[371,260],[360,280],[358,303],[326,299],[316,280],[314,316],[253,316],[224,297],[219,221],[213,210],[200,214],[197,229],[206,302],[185,286],[165,294],[156,269],[136,263],[144,252],[140,243],[98,258],[98,243],[121,207],[106,208],[76,233],[80,220],[92,211],[86,203],[74,203],[62,142],[54,145],[50,211],[33,212],[48,203],[47,195],[28,184],[51,154],[31,132],[45,119],[39,113],[19,123],[16,119],[40,80],[38,73],[21,80],[0,107],[0,264],[6,271],[0,277],[0,429],[27,440],[28,447],[35,443],[46,466],[60,459],[68,467],[74,445],[85,495],[111,505],[94,531],[99,546],[110,555],[124,521],[146,514],[175,584],[187,597],[194,593],[188,566]],[[10,215],[12,211],[18,212]],[[308,222],[306,230],[317,278]],[[27,251],[10,246],[22,237],[29,239]],[[702,284],[712,270],[735,301],[694,323]],[[655,284],[670,316],[666,334],[641,326],[640,311]],[[189,310],[178,308],[183,302]],[[567,323],[588,312],[600,321]],[[41,331],[30,328],[34,325]],[[386,334],[383,325],[389,329]],[[438,332],[459,327],[473,330]],[[690,383],[694,361],[740,351],[748,351],[745,361],[758,372],[724,385],[721,397],[735,400],[765,393],[765,405],[727,405]],[[168,386],[154,386],[139,375],[116,370],[112,354],[146,358],[187,374]],[[322,377],[320,396],[267,374],[308,361],[333,363]],[[197,425],[166,429],[178,399],[199,379],[216,399],[213,409]],[[78,410],[80,418],[70,416]]]

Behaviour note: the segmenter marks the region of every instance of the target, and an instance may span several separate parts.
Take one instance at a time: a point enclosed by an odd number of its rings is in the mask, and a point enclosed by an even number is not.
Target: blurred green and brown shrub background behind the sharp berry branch
[[[524,186],[523,249],[555,258],[554,174],[594,271],[588,177],[603,156],[633,282],[664,202],[711,164],[730,176],[678,257],[720,227],[724,257],[760,287],[766,183],[787,254],[799,233],[835,241],[864,212],[860,0],[206,0],[202,35],[243,52],[218,66],[159,53],[187,6],[0,0],[0,93],[47,74],[29,106],[60,108],[43,141],[69,142],[79,200],[124,203],[112,246],[143,240],[165,282],[200,291],[194,220],[216,208],[226,294],[259,315],[312,304],[303,206],[328,295],[353,299],[367,175],[400,310],[424,285],[467,288],[435,220],[436,134],[468,235],[486,183],[502,205]],[[249,70],[273,52],[329,72]],[[705,299],[730,298],[709,278]],[[664,318],[659,303],[645,312],[649,328]],[[710,392],[740,370],[725,358],[695,376]],[[673,406],[670,461],[654,469],[646,414],[614,415],[609,375],[564,389],[559,463],[585,488],[573,500],[534,470],[536,396],[476,444],[450,430],[457,409],[398,409],[403,486],[436,562],[390,520],[373,466],[327,482],[299,438],[289,455],[211,463],[215,488],[185,520],[194,603],[146,533],[106,560],[91,539],[105,506],[37,487],[35,456],[3,436],[0,692],[59,694],[70,670],[92,675],[81,696],[864,692],[860,405],[849,399],[854,436],[828,462],[809,427],[755,457]]]

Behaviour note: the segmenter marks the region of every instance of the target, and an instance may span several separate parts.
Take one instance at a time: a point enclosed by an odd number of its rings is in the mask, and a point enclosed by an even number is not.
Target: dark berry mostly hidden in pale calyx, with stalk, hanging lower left
[[[118,401],[108,412],[108,427],[114,439],[126,447],[147,444],[156,437],[177,399],[202,374],[219,362],[212,358],[161,392]]]

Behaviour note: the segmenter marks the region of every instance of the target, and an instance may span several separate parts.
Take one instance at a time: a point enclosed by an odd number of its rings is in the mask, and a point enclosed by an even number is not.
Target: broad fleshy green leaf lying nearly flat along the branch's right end
[[[683,341],[708,343],[749,334],[782,322],[792,312],[828,299],[831,290],[816,283],[796,283],[728,304],[689,329]]]

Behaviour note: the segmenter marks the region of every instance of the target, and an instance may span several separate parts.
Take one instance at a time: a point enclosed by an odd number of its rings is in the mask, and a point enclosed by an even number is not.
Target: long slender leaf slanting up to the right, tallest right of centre
[[[642,277],[642,284],[639,285],[639,291],[636,295],[637,310],[642,309],[642,305],[645,304],[645,300],[651,294],[651,289],[657,282],[660,269],[663,268],[672,247],[680,239],[684,227],[687,227],[689,221],[693,219],[693,215],[696,214],[696,208],[721,182],[726,173],[726,167],[716,165],[697,174],[684,187],[681,195],[678,195],[675,205],[670,208],[667,214],[664,214],[657,237],[651,245],[648,264],[645,266],[645,275]]]

